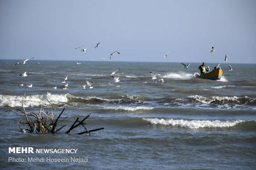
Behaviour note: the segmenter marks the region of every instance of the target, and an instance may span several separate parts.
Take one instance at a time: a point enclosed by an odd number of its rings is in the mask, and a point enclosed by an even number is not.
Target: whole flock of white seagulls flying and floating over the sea
[[[97,43],[97,45],[94,47],[94,49],[95,49],[95,48],[98,48],[98,47],[99,47],[99,44],[100,44],[100,42]],[[82,47],[83,47],[83,46],[76,47],[75,49],[82,49]],[[87,51],[87,49],[82,49],[81,51],[83,51],[83,53],[85,54],[86,51]],[[214,49],[214,47],[212,47],[210,52],[212,53],[212,52],[214,52],[214,51],[216,51],[216,50]],[[110,54],[109,58],[111,59],[111,56],[113,56],[114,54],[120,54],[120,53],[119,53],[118,51],[114,51],[113,53]],[[170,53],[166,53],[166,54],[164,55],[164,58],[166,58],[166,57],[168,56],[168,54],[170,54]],[[15,63],[15,66],[16,66],[17,64],[21,64],[21,63],[23,63],[23,65],[24,65],[24,64],[26,63],[26,61],[29,61],[29,60],[31,60],[31,59],[33,59],[33,58],[34,58],[34,57],[32,57],[32,58],[26,58],[26,59],[24,59],[24,60],[22,60],[22,61],[20,61],[20,62],[17,62],[17,63]],[[106,59],[106,58],[103,58],[103,59]],[[228,55],[226,54],[226,55],[225,55],[225,62],[227,62],[227,61],[228,61]],[[77,65],[81,65],[81,63],[76,63],[76,64],[77,64]],[[185,68],[185,69],[188,69],[188,66],[190,65],[190,63],[188,63],[188,64],[180,63],[180,64],[184,65],[184,68]],[[220,66],[220,63],[219,63],[218,65],[216,65],[215,68],[219,68],[219,66]],[[230,64],[228,64],[228,66],[229,66],[229,68],[230,68],[229,71],[233,70]],[[211,71],[210,68],[209,68],[209,66],[208,66],[207,68],[209,69],[209,71]],[[115,83],[120,82],[119,77],[116,77],[116,76],[115,76],[116,72],[119,71],[120,69],[121,69],[121,68],[118,68],[116,71],[110,73],[110,76],[114,78],[114,82],[115,82]],[[24,73],[20,74],[20,76],[21,76],[21,77],[26,77],[26,76],[27,76],[26,73],[27,73],[27,72],[24,72]],[[157,78],[156,78],[157,75],[156,75],[154,72],[149,72],[149,73],[150,73],[151,76],[152,76],[152,80],[157,79]],[[66,83],[66,84],[64,85],[64,88],[63,88],[63,89],[67,89],[67,88],[68,88],[68,82],[66,82],[66,80],[68,79],[68,75],[66,75],[66,77],[62,77],[62,78],[64,79],[64,81],[62,81],[62,83]],[[156,83],[157,83],[157,82],[166,83],[163,78],[158,79],[158,80],[156,80],[155,82],[156,82]],[[86,79],[86,84],[89,86],[89,88],[93,88],[92,81],[89,81],[88,79]],[[81,85],[81,86],[83,87],[83,89],[86,88],[86,84],[85,84],[85,85]],[[23,84],[19,84],[19,85],[20,85],[20,86],[23,86]],[[27,85],[26,87],[31,88],[32,86],[33,86],[33,85],[30,84],[30,85]],[[52,87],[52,88],[57,89],[57,86]]]

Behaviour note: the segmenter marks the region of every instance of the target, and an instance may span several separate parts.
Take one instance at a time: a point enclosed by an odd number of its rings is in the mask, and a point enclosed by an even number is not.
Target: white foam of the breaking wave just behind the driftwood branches
[[[26,95],[26,99],[24,102],[24,107],[36,107],[40,105],[50,105],[47,101],[49,100],[53,105],[59,104],[62,102],[68,102],[67,94],[64,95],[51,95],[47,93],[47,95]],[[12,107],[21,107],[23,100],[23,96],[15,96],[15,95],[0,95],[0,105],[7,104]]]

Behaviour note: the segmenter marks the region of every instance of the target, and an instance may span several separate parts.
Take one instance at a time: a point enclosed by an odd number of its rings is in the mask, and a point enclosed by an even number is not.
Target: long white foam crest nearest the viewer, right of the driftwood
[[[244,122],[242,120],[236,121],[209,121],[209,120],[173,120],[173,119],[158,119],[158,118],[150,118],[145,119],[145,121],[149,121],[152,124],[160,124],[160,125],[171,125],[171,126],[178,126],[182,128],[189,128],[189,129],[198,129],[198,128],[227,128],[235,126],[237,123]]]

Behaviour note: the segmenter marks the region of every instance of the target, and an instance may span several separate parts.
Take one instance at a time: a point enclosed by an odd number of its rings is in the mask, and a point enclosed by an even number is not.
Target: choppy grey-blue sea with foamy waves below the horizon
[[[223,77],[213,81],[194,78],[201,63],[17,62],[0,60],[1,170],[256,169],[256,64],[230,63],[229,71],[220,63]],[[57,128],[66,126],[55,134],[22,132],[26,118],[11,107],[22,109],[24,96],[26,112],[39,114],[42,106],[51,113],[52,104],[57,119],[65,108]],[[88,114],[88,130],[104,129],[65,133]]]

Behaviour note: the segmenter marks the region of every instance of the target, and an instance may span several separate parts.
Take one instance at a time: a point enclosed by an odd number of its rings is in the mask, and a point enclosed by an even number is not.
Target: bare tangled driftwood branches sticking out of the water
[[[26,92],[24,93],[24,96],[22,98],[22,109],[16,108],[16,107],[12,107],[9,106],[7,104],[5,104],[5,106],[10,107],[12,109],[15,109],[21,113],[24,114],[25,118],[26,118],[26,123],[22,123],[19,122],[19,128],[21,129],[22,132],[26,132],[26,130],[30,133],[57,133],[59,132],[59,130],[61,130],[64,126],[62,126],[61,128],[56,128],[57,127],[57,123],[59,122],[59,118],[62,115],[62,113],[64,112],[64,110],[66,109],[66,107],[64,107],[64,109],[62,110],[62,112],[59,114],[59,116],[57,117],[57,119],[54,120],[54,116],[55,116],[55,107],[52,105],[52,103],[47,100],[50,105],[52,106],[52,112],[44,112],[43,106],[40,105],[40,112],[39,114],[36,114],[34,112],[26,112],[25,107],[24,107],[24,102],[26,99]],[[79,118],[76,119],[76,121],[72,124],[72,126],[69,128],[69,130],[66,131],[67,134],[71,133],[71,130],[77,128],[78,126],[83,126],[83,128],[85,129],[85,131],[81,132],[81,133],[76,133],[78,135],[87,133],[88,135],[90,135],[90,132],[94,132],[97,130],[102,130],[104,128],[98,128],[98,129],[94,129],[94,130],[88,130],[87,128],[85,128],[85,124],[84,121],[85,119],[87,119],[90,116],[91,113],[89,113],[82,121],[78,121]],[[28,129],[23,129],[20,126],[20,123],[23,125],[28,126]]]

